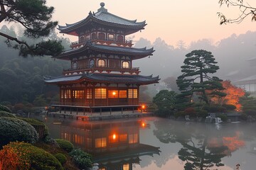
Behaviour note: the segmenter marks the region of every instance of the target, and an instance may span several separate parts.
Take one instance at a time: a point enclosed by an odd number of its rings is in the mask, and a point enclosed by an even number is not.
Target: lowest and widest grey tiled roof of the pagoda
[[[71,83],[72,81],[93,81],[105,83],[122,83],[122,84],[153,84],[158,83],[159,77],[131,75],[131,74],[79,74],[62,77],[45,77],[44,81],[48,84]]]

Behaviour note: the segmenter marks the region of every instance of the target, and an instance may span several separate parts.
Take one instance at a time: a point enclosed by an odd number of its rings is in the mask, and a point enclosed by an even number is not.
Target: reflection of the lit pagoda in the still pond
[[[60,137],[93,155],[101,170],[132,170],[139,164],[139,156],[159,154],[159,147],[139,142],[140,128],[147,128],[142,121],[122,122],[63,122]]]

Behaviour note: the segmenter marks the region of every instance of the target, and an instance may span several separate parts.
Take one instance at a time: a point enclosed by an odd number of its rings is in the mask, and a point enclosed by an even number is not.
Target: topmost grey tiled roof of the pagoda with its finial
[[[80,26],[82,24],[85,24],[87,22],[92,21],[98,21],[98,22],[106,22],[110,24],[115,24],[119,26],[128,26],[132,28],[144,28],[146,26],[146,21],[137,22],[137,20],[127,20],[125,18],[121,18],[119,16],[116,16],[112,13],[107,12],[107,9],[104,8],[105,4],[101,4],[101,8],[98,9],[97,13],[90,12],[89,15],[82,19],[81,21],[78,21],[77,23],[72,24],[65,24],[66,26],[59,26],[60,33],[65,33],[65,30],[72,30],[76,26]]]

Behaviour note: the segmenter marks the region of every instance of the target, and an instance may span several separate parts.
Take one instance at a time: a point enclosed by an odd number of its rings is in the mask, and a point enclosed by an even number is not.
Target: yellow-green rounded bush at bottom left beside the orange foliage
[[[41,148],[24,142],[11,142],[9,146],[26,155],[31,164],[31,170],[63,170],[58,159]]]

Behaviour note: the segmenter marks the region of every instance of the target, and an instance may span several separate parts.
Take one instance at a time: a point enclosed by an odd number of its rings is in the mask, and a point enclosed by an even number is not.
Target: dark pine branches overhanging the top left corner
[[[42,40],[28,44],[26,40],[2,31],[0,35],[6,38],[9,47],[20,50],[21,56],[58,55],[63,50],[61,41],[45,38],[58,25],[57,21],[51,21],[53,10],[53,6],[46,6],[46,0],[1,0],[0,23],[20,23],[27,38]]]

